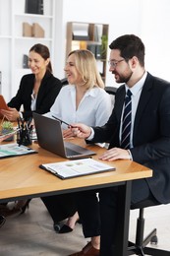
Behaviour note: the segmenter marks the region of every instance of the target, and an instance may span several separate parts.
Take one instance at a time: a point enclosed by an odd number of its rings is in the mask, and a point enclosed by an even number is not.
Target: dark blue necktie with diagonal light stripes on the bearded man
[[[122,119],[122,138],[121,148],[130,149],[130,136],[131,136],[131,118],[132,118],[132,93],[130,90],[127,91],[125,97],[124,113]]]

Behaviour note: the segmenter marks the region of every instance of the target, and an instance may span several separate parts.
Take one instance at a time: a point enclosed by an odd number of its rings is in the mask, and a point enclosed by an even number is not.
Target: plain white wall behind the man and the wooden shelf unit
[[[109,43],[124,33],[135,33],[145,44],[145,67],[153,75],[170,81],[169,0],[57,0],[56,75],[64,77],[67,22],[109,24]],[[109,53],[109,49],[108,49]],[[107,71],[107,85],[114,85]]]

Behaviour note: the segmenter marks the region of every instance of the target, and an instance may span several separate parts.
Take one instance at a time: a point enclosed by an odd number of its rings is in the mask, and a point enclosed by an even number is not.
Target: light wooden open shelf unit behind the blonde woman
[[[109,26],[107,24],[79,22],[69,22],[67,24],[66,57],[70,51],[75,49],[90,50],[96,58],[104,82],[107,66],[108,30]]]

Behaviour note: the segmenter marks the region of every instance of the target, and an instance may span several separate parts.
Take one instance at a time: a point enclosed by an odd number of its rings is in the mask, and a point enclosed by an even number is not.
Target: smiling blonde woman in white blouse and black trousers
[[[62,88],[45,116],[55,116],[67,123],[104,125],[111,114],[111,99],[104,91],[93,54],[88,50],[72,51],[68,55],[65,72],[70,85]],[[66,124],[62,123],[62,128],[65,138],[73,136]],[[42,201],[54,221],[56,231],[63,233],[74,229],[79,219],[74,194],[45,197]],[[98,205],[97,198],[95,204]],[[67,224],[61,227],[58,223],[66,218],[69,218]],[[99,220],[96,226],[98,224]]]

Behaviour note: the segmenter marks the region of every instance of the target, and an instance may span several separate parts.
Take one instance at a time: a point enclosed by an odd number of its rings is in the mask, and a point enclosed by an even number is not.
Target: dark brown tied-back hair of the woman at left
[[[41,43],[36,43],[34,44],[30,49],[30,51],[34,51],[36,53],[38,53],[44,60],[47,60],[48,58],[50,58],[50,53],[49,53],[49,49],[46,45],[43,45]],[[48,65],[47,65],[47,70],[52,73],[52,65],[51,65],[51,61],[49,61]]]

